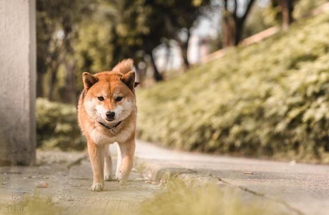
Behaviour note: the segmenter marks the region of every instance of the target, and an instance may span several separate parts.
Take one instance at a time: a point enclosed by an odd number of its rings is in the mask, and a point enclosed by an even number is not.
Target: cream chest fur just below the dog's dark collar
[[[134,126],[129,124],[120,132],[116,133],[115,136],[112,136],[111,131],[108,131],[108,135],[101,132],[101,128],[93,128],[88,131],[90,138],[97,145],[112,144],[113,142],[124,142],[131,136]]]

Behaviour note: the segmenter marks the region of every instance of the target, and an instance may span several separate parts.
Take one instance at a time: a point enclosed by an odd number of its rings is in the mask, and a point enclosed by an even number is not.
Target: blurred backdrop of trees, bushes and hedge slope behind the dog
[[[36,0],[41,149],[84,150],[82,73],[134,59],[138,138],[329,163],[326,0]]]

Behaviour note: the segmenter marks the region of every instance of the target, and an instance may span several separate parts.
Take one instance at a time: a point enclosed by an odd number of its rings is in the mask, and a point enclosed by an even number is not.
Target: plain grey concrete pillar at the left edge
[[[35,160],[35,0],[0,1],[0,166]]]

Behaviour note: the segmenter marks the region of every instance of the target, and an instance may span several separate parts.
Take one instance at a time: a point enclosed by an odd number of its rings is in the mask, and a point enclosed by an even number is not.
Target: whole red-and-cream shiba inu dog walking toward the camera
[[[133,60],[126,59],[111,71],[83,73],[84,89],[78,103],[78,123],[87,138],[94,180],[91,191],[104,189],[112,179],[109,144],[118,143],[115,177],[124,185],[133,168],[136,97]]]

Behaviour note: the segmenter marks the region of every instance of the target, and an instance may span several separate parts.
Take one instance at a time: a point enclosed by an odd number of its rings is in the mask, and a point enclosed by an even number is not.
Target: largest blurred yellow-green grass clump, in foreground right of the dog
[[[213,183],[188,186],[179,179],[167,184],[167,192],[141,203],[140,214],[157,215],[257,215],[275,214],[271,205],[246,203],[230,188]]]

